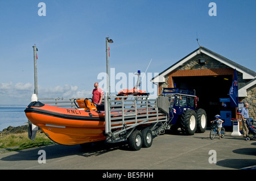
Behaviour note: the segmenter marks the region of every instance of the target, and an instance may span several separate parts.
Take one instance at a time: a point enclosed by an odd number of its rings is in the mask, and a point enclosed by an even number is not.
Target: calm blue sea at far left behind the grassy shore
[[[0,106],[0,131],[9,126],[18,127],[28,123],[24,110],[27,106]]]

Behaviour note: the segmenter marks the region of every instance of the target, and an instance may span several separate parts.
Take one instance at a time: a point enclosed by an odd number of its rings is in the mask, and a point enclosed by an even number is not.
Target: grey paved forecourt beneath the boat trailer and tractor
[[[38,158],[45,151],[46,163]],[[215,150],[216,154],[209,154]],[[216,163],[214,161],[216,155]],[[154,138],[150,148],[130,151],[125,144],[92,146],[49,145],[0,154],[0,169],[97,169],[97,170],[172,170],[242,169],[256,165],[256,141],[231,136],[210,140],[209,131],[193,136],[163,134]],[[39,159],[42,161],[43,159]]]

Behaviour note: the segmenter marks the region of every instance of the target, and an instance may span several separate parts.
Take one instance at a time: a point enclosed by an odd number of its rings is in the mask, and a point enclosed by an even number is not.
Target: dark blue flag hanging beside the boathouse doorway
[[[238,81],[237,69],[234,70],[234,78],[229,90],[230,107],[238,107]]]

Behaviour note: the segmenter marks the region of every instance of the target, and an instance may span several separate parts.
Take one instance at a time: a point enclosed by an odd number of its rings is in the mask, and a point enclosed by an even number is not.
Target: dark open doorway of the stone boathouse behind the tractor
[[[209,126],[209,121],[221,111],[220,98],[229,98],[233,75],[172,77],[172,80],[177,88],[196,91],[198,108],[207,112]]]

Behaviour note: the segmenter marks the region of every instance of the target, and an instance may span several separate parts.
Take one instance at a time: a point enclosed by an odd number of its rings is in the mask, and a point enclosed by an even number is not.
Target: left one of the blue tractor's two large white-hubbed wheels
[[[196,132],[196,112],[187,110],[181,116],[181,125],[187,135],[193,135]]]

